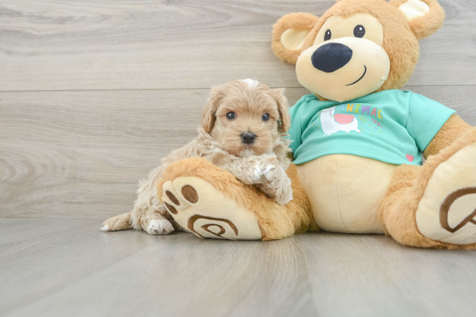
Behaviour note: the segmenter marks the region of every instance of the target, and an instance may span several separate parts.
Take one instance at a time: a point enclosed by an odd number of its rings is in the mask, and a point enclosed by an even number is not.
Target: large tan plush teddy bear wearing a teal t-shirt
[[[281,17],[272,49],[311,92],[289,108],[293,200],[277,205],[201,158],[170,165],[158,198],[199,237],[324,230],[476,248],[476,129],[400,90],[418,62],[418,41],[443,20],[436,0],[340,0],[321,17]]]

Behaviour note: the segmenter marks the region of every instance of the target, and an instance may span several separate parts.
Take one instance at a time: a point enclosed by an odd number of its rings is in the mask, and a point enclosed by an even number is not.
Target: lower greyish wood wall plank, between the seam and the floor
[[[476,125],[475,86],[407,87]],[[289,88],[291,104],[306,94]],[[106,219],[194,135],[208,89],[0,93],[0,217]]]

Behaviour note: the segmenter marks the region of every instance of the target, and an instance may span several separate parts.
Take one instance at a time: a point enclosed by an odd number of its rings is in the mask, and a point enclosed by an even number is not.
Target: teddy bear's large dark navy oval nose
[[[340,43],[327,43],[315,50],[311,56],[312,66],[326,73],[332,73],[349,63],[352,50]]]

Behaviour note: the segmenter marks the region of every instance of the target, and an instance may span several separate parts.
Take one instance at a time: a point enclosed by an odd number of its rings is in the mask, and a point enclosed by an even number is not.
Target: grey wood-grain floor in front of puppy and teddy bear
[[[384,235],[221,241],[100,225],[0,219],[1,315],[474,316],[473,251]]]

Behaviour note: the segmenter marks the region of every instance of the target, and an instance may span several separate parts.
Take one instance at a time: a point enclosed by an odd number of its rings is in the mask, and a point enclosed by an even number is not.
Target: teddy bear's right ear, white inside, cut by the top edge
[[[418,40],[430,36],[443,26],[444,10],[436,0],[391,0],[389,3],[407,18]]]

